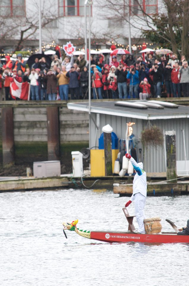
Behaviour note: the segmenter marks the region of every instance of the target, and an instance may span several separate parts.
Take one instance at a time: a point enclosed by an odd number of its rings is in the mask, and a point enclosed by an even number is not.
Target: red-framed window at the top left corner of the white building
[[[26,16],[25,0],[0,0],[0,15],[4,17]]]

